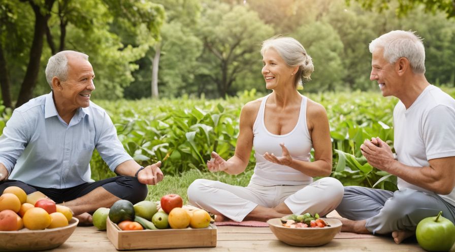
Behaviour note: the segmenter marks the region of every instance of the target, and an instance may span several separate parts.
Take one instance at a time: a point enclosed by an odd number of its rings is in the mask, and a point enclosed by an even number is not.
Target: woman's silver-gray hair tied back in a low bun
[[[305,82],[311,80],[310,75],[314,70],[313,61],[299,41],[289,37],[272,37],[263,42],[261,55],[264,56],[264,52],[269,48],[275,49],[288,66],[299,66],[296,83],[294,83],[296,87],[302,85],[302,80]]]

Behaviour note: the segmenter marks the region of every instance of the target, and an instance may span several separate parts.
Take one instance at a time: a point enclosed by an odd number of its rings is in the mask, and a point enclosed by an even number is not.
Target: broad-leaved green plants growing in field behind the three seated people
[[[451,89],[448,89],[451,90]],[[450,92],[449,92],[450,93]],[[210,152],[222,157],[234,155],[240,110],[257,98],[255,90],[226,100],[163,99],[116,102],[99,101],[114,121],[126,151],[142,165],[163,160],[166,175],[207,170]],[[345,185],[396,188],[396,177],[371,167],[362,156],[365,139],[380,137],[393,146],[393,108],[395,98],[383,98],[373,92],[324,92],[310,94],[310,99],[327,110],[333,143],[333,173]],[[247,173],[252,171],[253,153]],[[92,177],[101,178],[108,168],[95,153]],[[112,174],[111,174],[112,175]],[[100,176],[100,177],[99,177]],[[244,175],[240,175],[240,179]]]

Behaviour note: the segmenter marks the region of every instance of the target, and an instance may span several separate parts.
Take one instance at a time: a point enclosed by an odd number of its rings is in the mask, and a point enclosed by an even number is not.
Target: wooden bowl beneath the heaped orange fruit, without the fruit
[[[76,229],[79,219],[73,217],[66,227],[18,231],[0,231],[0,251],[44,250],[60,246]]]

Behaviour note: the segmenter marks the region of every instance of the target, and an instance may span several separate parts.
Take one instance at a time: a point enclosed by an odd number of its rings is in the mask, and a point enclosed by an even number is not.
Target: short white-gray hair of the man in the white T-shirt
[[[383,56],[389,63],[405,57],[409,60],[412,72],[425,74],[425,47],[415,31],[390,31],[371,41],[369,48],[371,53],[377,48],[383,48]]]

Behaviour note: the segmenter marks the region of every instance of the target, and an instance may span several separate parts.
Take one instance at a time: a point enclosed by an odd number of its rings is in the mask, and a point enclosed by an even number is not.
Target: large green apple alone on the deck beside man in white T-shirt
[[[417,225],[415,236],[425,250],[448,251],[455,242],[455,225],[441,214],[424,218]]]

